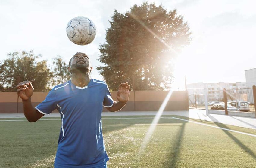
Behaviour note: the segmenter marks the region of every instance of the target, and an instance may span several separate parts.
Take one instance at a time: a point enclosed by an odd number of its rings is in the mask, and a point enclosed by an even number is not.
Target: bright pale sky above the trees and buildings
[[[116,9],[129,11],[140,0],[77,1],[0,1],[0,60],[7,53],[30,51],[41,54],[50,63],[61,55],[68,63],[76,52],[85,52],[91,60],[92,76],[103,66],[99,44],[105,42],[109,20]],[[252,0],[158,0],[168,11],[177,9],[192,32],[191,44],[175,62],[173,88],[187,83],[245,82],[245,70],[256,68],[256,1]],[[66,25],[76,16],[90,18],[97,26],[95,40],[86,46],[73,44],[66,35]]]

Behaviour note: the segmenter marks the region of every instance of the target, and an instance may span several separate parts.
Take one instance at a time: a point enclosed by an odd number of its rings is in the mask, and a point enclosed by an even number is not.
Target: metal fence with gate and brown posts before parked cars
[[[205,109],[204,94],[207,93],[207,107],[211,110],[255,112],[256,87],[223,90],[190,89],[189,108]]]

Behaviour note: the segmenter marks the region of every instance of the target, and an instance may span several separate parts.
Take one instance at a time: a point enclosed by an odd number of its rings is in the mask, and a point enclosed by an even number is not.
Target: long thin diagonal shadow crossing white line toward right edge
[[[211,119],[215,119],[216,121],[218,121],[216,118],[214,118],[213,116],[209,116],[209,118]],[[229,127],[227,127],[225,124],[219,123],[219,122],[214,122],[218,127],[221,128],[226,128],[226,129],[230,129]],[[240,140],[238,140],[234,135],[232,135],[230,133],[230,131],[227,130],[222,130],[224,131],[235,143],[237,143],[237,145],[239,145],[245,152],[247,152],[248,154],[250,154],[254,159],[256,159],[256,155],[254,154],[254,152],[248,148],[247,146],[245,146]]]

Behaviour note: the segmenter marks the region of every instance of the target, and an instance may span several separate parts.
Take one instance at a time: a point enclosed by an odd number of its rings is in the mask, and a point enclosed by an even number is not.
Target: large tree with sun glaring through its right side
[[[144,2],[125,14],[114,11],[97,67],[112,90],[128,82],[133,90],[164,90],[173,80],[173,58],[191,41],[189,26],[176,9]],[[133,86],[133,83],[135,86]]]

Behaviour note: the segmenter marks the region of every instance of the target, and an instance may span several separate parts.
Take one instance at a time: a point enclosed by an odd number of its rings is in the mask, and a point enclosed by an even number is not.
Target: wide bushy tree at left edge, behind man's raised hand
[[[48,91],[52,74],[46,60],[37,61],[39,57],[41,55],[34,55],[33,51],[9,53],[0,64],[0,91],[17,91],[18,76],[20,82],[33,82],[34,91]]]

